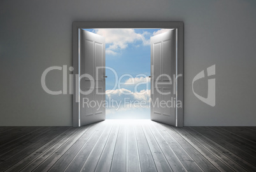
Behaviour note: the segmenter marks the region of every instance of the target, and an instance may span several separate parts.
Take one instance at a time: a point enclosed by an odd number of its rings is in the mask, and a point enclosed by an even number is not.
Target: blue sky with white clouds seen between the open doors
[[[116,100],[120,107],[107,107],[106,119],[150,119],[150,37],[166,32],[167,29],[84,29],[105,37],[106,41],[106,67],[111,67],[117,72],[118,79],[129,74],[135,83],[144,81],[134,90],[135,85],[123,84],[114,88],[115,75],[106,69],[106,100]],[[137,76],[139,74],[145,76]],[[137,76],[137,77],[136,77]],[[122,83],[129,83],[131,77],[123,77]],[[108,92],[110,91],[110,92]],[[126,93],[126,94],[125,94]],[[127,95],[129,93],[129,95]],[[125,103],[125,98],[129,100]],[[139,107],[132,101],[146,102]],[[124,105],[125,104],[125,105]]]

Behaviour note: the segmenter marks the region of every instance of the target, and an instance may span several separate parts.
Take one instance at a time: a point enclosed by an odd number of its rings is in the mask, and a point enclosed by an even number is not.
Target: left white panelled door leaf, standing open
[[[81,90],[90,92],[80,93],[80,126],[83,126],[105,119],[105,109],[102,106],[105,100],[105,40],[103,36],[92,32],[83,29],[79,31],[80,74],[89,74],[95,82],[92,84],[89,77],[80,80]]]

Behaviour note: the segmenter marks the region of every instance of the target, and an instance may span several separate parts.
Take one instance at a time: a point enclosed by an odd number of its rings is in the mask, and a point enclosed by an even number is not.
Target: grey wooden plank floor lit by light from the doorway
[[[256,127],[0,127],[0,171],[256,171]]]

